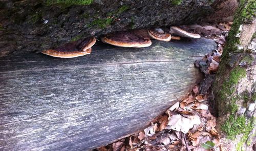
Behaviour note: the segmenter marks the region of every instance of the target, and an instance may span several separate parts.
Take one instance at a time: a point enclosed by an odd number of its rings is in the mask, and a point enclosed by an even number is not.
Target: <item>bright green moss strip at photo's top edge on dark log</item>
[[[54,4],[65,4],[68,6],[71,5],[90,5],[93,3],[93,0],[47,0],[47,5],[54,5]]]

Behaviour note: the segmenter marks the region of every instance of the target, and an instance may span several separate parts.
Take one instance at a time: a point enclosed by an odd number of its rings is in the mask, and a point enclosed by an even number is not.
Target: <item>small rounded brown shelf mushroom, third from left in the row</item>
[[[151,38],[160,41],[169,41],[172,38],[169,33],[164,32],[161,28],[150,29],[147,32]]]

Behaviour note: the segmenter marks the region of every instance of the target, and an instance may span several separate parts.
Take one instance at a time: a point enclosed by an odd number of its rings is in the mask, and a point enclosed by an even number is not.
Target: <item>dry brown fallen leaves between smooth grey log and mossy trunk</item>
[[[164,114],[156,117],[143,131],[122,138],[95,151],[124,150],[228,150],[223,146],[216,127],[217,111],[211,84],[221,60],[225,38],[230,24],[221,24],[225,32],[207,36],[218,44],[212,54],[195,62],[205,78],[181,102],[173,104]],[[212,33],[211,33],[212,34]]]

